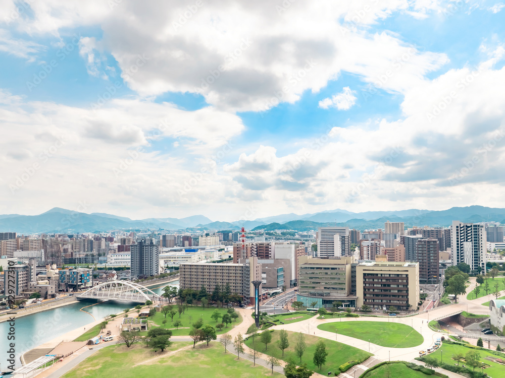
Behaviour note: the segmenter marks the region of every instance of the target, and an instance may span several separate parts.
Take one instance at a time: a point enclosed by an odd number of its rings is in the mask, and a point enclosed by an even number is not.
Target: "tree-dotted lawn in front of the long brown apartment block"
[[[191,330],[191,324],[193,324],[193,322],[198,320],[200,318],[200,316],[201,316],[201,319],[203,319],[203,321],[204,321],[204,325],[210,324],[211,326],[216,327],[217,324],[221,323],[222,319],[219,319],[219,322],[216,322],[214,319],[211,318],[211,315],[215,309],[216,309],[216,307],[212,307],[212,306],[210,308],[204,308],[201,306],[189,306],[184,311],[184,313],[181,313],[180,319],[179,319],[179,312],[177,312],[174,316],[174,322],[177,320],[180,320],[182,322],[182,326],[181,326],[182,328],[179,327],[179,329],[176,329],[176,327],[174,326],[174,323],[172,322],[170,317],[167,315],[167,318],[165,318],[165,315],[161,311],[156,312],[156,315],[153,318],[148,318],[148,321],[149,321],[149,325],[153,325],[153,323],[154,323],[155,325],[163,327],[163,328],[167,328],[167,329],[173,328],[173,330],[172,330],[173,336],[187,336],[187,335],[189,335],[189,331]],[[177,311],[177,306],[174,306],[174,310]],[[218,308],[218,310],[221,313],[226,313],[226,311],[227,311],[226,308]],[[241,317],[240,313],[238,311],[237,311],[237,313],[238,313],[238,318],[235,322],[235,325],[238,325],[242,322],[242,317]],[[189,321],[190,316],[192,317],[191,322]],[[164,325],[162,322],[165,319],[167,320],[167,323]],[[223,328],[221,331],[216,329],[216,334],[220,335],[220,334],[227,333],[232,328],[233,328],[233,323],[230,323],[230,324],[228,324],[228,327]]]

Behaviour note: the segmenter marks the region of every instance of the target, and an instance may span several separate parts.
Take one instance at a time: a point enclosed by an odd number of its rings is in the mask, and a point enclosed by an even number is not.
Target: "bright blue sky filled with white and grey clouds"
[[[0,0],[0,214],[505,207],[504,8]]]

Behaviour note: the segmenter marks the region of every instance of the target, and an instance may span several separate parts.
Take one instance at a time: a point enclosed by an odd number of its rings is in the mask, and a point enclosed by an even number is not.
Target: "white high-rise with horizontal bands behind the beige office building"
[[[317,257],[350,256],[349,227],[319,227]]]

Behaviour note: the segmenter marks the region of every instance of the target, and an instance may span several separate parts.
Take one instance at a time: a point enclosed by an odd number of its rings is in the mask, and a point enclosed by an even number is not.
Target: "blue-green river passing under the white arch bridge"
[[[147,287],[155,293],[161,294],[163,288],[167,285],[178,287],[179,281]],[[36,348],[38,345],[60,335],[64,335],[78,327],[92,323],[95,320],[100,320],[110,314],[121,312],[125,308],[132,308],[136,304],[137,303],[116,302],[112,300],[97,302],[96,300],[85,299],[66,306],[17,318],[15,321],[16,367],[21,367],[19,358],[26,351]],[[87,312],[81,311],[81,308]],[[8,333],[9,322],[0,323],[0,365],[3,370],[7,369],[7,350],[9,349],[9,343],[12,342],[7,339]]]

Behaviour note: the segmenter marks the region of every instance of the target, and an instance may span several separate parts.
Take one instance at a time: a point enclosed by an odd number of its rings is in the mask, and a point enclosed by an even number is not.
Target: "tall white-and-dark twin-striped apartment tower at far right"
[[[486,231],[481,224],[452,221],[452,264],[466,263],[472,273],[486,270]]]

